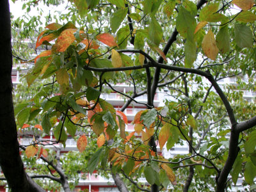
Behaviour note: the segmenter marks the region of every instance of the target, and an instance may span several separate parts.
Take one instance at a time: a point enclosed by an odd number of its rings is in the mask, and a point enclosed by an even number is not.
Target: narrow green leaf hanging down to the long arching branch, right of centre
[[[192,68],[196,61],[196,43],[195,41],[187,40],[185,43],[185,67]]]

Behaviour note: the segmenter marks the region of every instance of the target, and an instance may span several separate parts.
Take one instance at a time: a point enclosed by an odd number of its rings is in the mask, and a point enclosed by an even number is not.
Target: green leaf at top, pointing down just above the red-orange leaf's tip
[[[128,8],[125,9],[118,9],[115,11],[110,17],[110,26],[112,32],[115,33],[116,30],[119,28],[120,24],[124,20],[125,16],[127,15]]]

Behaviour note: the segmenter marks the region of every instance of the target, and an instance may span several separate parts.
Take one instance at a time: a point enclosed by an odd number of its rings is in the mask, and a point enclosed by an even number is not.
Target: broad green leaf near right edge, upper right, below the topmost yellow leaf
[[[252,47],[253,35],[249,26],[244,24],[235,24],[235,40],[240,48]]]

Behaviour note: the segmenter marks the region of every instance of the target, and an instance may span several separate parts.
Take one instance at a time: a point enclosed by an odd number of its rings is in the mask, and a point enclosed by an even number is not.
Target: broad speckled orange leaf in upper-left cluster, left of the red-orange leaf
[[[65,29],[61,32],[60,36],[56,41],[56,51],[65,52],[67,48],[76,40],[74,33],[77,29]]]

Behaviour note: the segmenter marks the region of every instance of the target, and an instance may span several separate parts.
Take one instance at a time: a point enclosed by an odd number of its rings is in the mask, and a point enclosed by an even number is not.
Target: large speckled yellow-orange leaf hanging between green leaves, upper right
[[[208,31],[207,34],[205,34],[204,39],[202,41],[202,48],[204,50],[205,55],[208,58],[210,58],[212,60],[216,59],[219,49],[217,47],[216,40],[214,38],[214,34],[212,33],[211,30]]]

